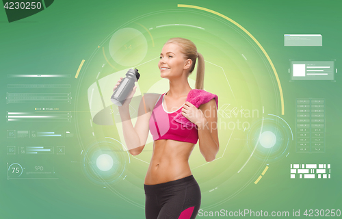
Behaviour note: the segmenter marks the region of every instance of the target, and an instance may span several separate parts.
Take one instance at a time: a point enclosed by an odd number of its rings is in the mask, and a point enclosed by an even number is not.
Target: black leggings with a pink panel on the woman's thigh
[[[200,186],[193,175],[145,185],[146,219],[194,219],[200,209]]]

